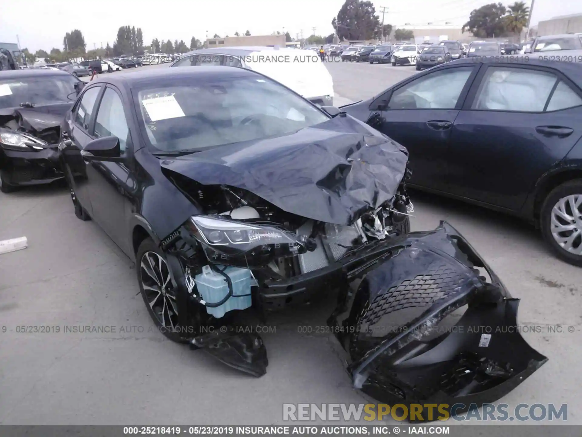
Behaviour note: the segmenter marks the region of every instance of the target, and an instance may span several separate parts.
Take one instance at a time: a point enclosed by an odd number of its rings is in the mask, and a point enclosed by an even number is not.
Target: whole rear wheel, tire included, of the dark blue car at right
[[[558,257],[582,267],[582,179],[554,188],[544,200],[540,226]]]

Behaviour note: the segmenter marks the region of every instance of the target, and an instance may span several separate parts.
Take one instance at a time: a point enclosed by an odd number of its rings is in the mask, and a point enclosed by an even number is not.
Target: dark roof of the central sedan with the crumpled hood
[[[164,79],[165,77],[184,78],[198,77],[200,80],[214,79],[216,77],[253,77],[259,73],[250,71],[246,68],[232,66],[198,66],[196,68],[157,68],[143,69],[130,74],[104,75],[90,82],[94,83],[111,83],[118,87],[131,87],[136,83],[148,82],[151,79]]]

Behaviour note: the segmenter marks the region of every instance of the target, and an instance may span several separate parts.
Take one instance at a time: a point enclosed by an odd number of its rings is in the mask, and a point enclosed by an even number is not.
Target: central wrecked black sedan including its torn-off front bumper
[[[264,375],[261,338],[201,328],[324,288],[354,387],[382,401],[491,402],[546,361],[459,232],[410,232],[406,149],[257,72],[98,79],[60,147],[77,216],[135,261],[154,323],[225,364]]]

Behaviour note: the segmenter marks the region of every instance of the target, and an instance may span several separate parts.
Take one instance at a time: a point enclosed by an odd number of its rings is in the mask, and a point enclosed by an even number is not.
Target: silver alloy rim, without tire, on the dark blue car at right
[[[561,198],[552,208],[550,231],[566,252],[582,255],[582,194]]]

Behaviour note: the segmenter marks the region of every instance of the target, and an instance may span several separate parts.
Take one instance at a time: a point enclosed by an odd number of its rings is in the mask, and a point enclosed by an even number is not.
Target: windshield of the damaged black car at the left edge
[[[21,103],[70,103],[76,97],[76,82],[79,80],[71,75],[0,80],[0,109],[17,108]],[[70,94],[73,95],[68,98]]]

